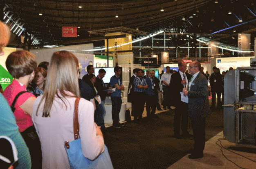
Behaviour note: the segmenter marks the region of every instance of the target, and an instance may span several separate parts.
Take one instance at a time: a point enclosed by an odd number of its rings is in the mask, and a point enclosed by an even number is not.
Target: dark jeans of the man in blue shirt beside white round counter
[[[118,126],[119,125],[119,113],[120,113],[121,105],[122,105],[122,98],[111,96],[111,102],[112,102],[113,126]]]

